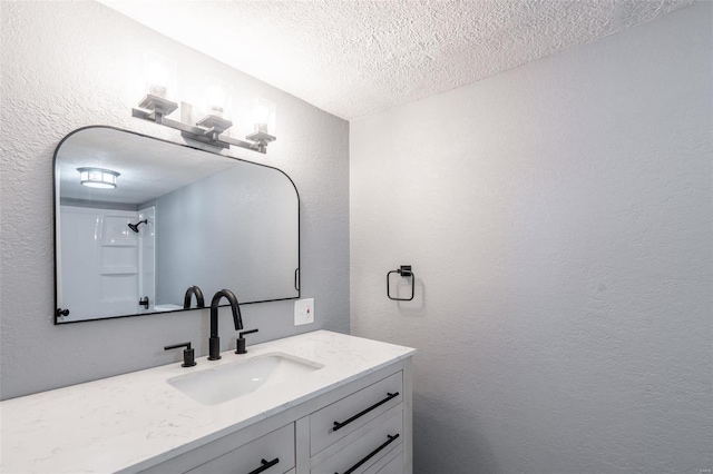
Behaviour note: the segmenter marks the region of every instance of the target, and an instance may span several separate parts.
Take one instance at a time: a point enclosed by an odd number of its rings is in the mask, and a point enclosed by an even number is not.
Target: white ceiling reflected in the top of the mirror
[[[236,161],[178,144],[110,128],[88,128],[65,140],[56,171],[61,198],[138,205],[206,178]],[[81,186],[77,168],[118,171],[116,189]]]

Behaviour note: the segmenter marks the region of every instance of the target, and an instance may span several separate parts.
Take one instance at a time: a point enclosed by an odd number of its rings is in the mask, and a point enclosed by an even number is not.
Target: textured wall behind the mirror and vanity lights
[[[252,342],[315,328],[349,332],[349,124],[211,60],[95,2],[2,2],[0,60],[1,397],[178,361],[163,346],[191,339],[207,353],[207,313],[188,312],[53,326],[52,152],[69,131],[110,125],[180,141],[178,132],[130,117],[140,99],[141,57],[178,62],[182,97],[205,76],[277,105],[266,156],[233,154],[286,171],[302,206],[302,289],[316,323],[293,326],[292,302],[247,305]],[[328,263],[328,264],[325,264]],[[229,286],[229,285],[226,285]],[[221,315],[223,348],[235,344]]]

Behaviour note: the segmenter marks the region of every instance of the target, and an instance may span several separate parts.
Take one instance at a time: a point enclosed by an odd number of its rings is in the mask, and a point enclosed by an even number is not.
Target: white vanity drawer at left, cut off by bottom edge
[[[267,467],[263,460],[274,464]],[[281,474],[294,467],[294,424],[275,429],[188,472],[248,474],[261,467],[265,468],[258,472],[265,474]]]

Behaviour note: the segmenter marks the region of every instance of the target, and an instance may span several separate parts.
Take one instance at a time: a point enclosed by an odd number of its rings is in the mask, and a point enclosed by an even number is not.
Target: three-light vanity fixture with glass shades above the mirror
[[[172,100],[172,89],[168,86],[170,79],[167,78],[167,71],[175,70],[175,66],[162,67],[162,63],[167,61],[156,55],[147,55],[146,60],[148,66],[146,67],[147,87],[146,96],[138,105],[138,109],[131,109],[131,116],[144,120],[149,120],[166,127],[170,127],[176,130],[180,130],[180,135],[184,138],[201,141],[218,148],[229,148],[231,146],[246,148],[261,154],[267,152],[267,145],[271,141],[276,140],[274,135],[271,135],[274,129],[274,115],[275,106],[264,99],[262,100],[262,115],[253,121],[255,131],[245,137],[245,140],[228,137],[224,135],[224,131],[233,127],[233,122],[227,118],[226,112],[229,106],[229,95],[226,89],[222,89],[225,85],[219,81],[209,81],[205,87],[206,96],[206,115],[196,121],[195,125],[185,124],[183,120],[174,120],[167,118],[178,109],[178,103]],[[175,65],[175,63],[174,63]],[[175,86],[174,86],[175,88]],[[182,102],[182,107],[192,109],[193,106],[186,102]],[[266,110],[266,112],[265,112]],[[183,113],[191,116],[191,113]],[[270,120],[272,120],[272,128],[270,128]],[[274,132],[273,132],[274,134]]]

